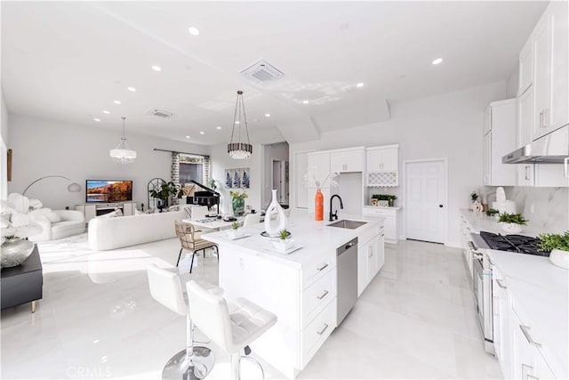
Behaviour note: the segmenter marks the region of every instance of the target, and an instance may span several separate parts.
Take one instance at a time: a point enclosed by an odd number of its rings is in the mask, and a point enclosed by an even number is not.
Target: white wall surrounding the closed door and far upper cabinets
[[[448,158],[447,241],[458,246],[459,209],[469,206],[470,192],[482,183],[482,116],[490,101],[505,98],[506,81],[501,81],[455,93],[394,102],[390,105],[391,120],[322,133],[318,141],[291,144],[290,157],[293,159],[294,152],[299,150],[398,143],[400,174],[405,160]],[[296,178],[296,174],[291,175],[293,182]],[[397,193],[397,203],[405,206],[403,186],[400,182],[398,191],[387,189],[382,192]],[[291,189],[294,189],[293,183]]]

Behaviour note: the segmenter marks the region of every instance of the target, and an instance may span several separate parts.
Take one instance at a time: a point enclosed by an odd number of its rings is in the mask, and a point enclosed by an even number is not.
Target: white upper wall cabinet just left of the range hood
[[[493,101],[485,110],[483,130],[483,181],[487,186],[515,186],[517,167],[501,158],[516,150],[517,101]]]

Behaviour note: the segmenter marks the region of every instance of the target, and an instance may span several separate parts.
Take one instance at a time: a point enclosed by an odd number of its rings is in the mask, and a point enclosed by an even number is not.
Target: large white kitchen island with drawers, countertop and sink
[[[228,300],[244,297],[276,314],[274,327],[252,344],[263,360],[294,378],[336,327],[336,249],[358,239],[357,294],[383,265],[383,219],[341,215],[366,222],[350,230],[316,222],[307,213],[294,213],[288,230],[301,249],[284,255],[271,239],[260,236],[264,224],[244,229],[242,239],[227,231],[203,236],[220,249],[220,287]]]

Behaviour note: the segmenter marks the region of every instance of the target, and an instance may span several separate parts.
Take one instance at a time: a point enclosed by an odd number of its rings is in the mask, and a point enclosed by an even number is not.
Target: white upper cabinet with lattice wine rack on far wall
[[[367,148],[367,186],[398,186],[399,145]]]

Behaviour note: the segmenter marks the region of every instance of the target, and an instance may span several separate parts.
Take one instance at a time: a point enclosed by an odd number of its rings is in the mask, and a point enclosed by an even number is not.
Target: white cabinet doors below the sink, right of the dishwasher
[[[384,232],[357,246],[357,296],[360,296],[385,263]]]

